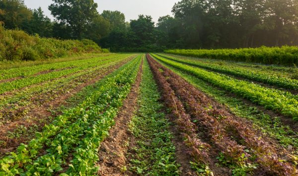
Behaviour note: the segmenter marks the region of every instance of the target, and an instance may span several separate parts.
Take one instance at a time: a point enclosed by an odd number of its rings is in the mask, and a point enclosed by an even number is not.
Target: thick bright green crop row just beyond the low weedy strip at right
[[[275,110],[282,115],[298,120],[298,100],[297,97],[289,92],[265,88],[254,83],[237,80],[226,75],[181,64],[156,55],[153,56],[163,63],[193,74],[213,85],[223,88],[224,90],[231,91],[243,98],[249,99],[254,103],[258,103],[266,109]]]

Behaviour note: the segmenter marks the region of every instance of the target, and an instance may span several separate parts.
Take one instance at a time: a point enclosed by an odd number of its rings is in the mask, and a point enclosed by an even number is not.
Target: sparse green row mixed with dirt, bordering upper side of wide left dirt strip
[[[28,89],[16,91],[14,95],[0,96],[0,124],[6,125],[24,118],[31,119],[32,117],[27,114],[35,107],[51,102],[61,95],[75,90],[81,84],[93,81],[98,76],[103,77],[111,73],[130,59],[133,59],[133,56],[83,70],[69,77],[55,79],[51,82],[45,82]]]

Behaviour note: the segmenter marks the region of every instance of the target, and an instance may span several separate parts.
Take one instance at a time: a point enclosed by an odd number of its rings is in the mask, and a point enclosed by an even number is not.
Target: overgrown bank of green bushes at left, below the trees
[[[108,52],[91,40],[40,38],[21,30],[6,30],[0,25],[0,61],[53,59],[81,53]]]

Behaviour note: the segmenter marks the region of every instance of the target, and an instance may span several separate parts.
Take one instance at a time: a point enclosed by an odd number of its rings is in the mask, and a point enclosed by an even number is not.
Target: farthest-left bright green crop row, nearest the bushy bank
[[[47,71],[47,70],[56,70],[62,69],[67,67],[77,67],[81,66],[85,63],[94,63],[100,62],[106,59],[113,59],[121,57],[122,55],[116,54],[109,54],[108,56],[99,56],[93,57],[89,59],[77,59],[77,60],[64,60],[62,62],[53,62],[53,63],[46,63],[46,64],[38,64],[38,65],[30,65],[30,66],[21,66],[17,68],[9,68],[9,69],[1,69],[0,70],[0,81],[9,78],[16,78],[16,77],[28,77],[34,75],[36,73]],[[22,65],[22,63],[19,63]]]

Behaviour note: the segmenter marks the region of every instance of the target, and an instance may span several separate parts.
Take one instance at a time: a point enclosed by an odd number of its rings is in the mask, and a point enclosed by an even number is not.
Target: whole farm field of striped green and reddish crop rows
[[[297,68],[175,54],[0,66],[0,176],[298,175]]]

